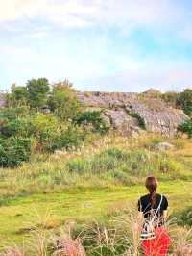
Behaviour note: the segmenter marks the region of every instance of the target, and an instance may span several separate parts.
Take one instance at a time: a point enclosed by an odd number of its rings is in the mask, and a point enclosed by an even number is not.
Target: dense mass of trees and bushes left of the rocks
[[[19,166],[33,152],[78,147],[89,132],[107,131],[102,113],[83,112],[72,84],[49,85],[46,78],[12,85],[7,107],[0,109],[0,166]]]

